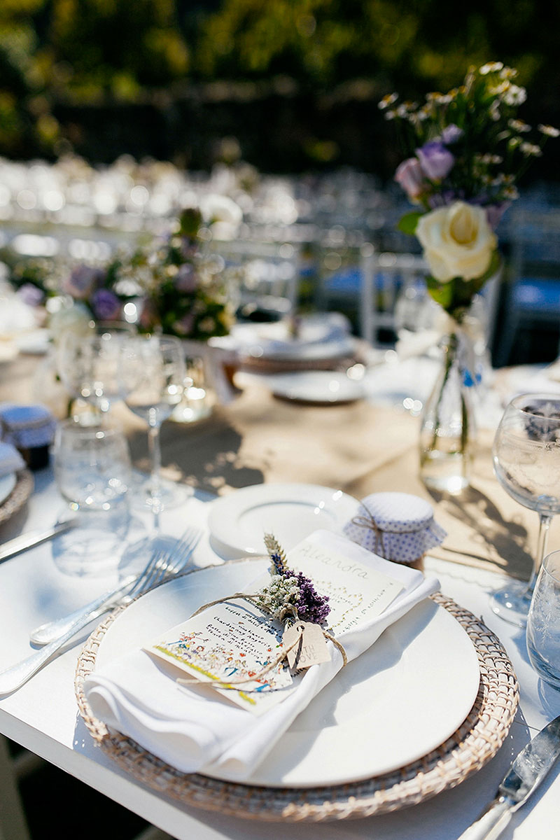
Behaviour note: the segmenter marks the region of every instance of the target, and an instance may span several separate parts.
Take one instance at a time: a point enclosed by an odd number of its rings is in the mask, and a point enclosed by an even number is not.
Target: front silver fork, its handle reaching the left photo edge
[[[154,553],[144,569],[144,572],[139,575],[139,580],[137,581],[139,585],[133,585],[132,589],[128,591],[125,596],[121,597],[117,603],[119,605],[128,603],[128,601],[132,601],[134,597],[144,594],[144,592],[147,592],[149,589],[153,589],[154,586],[158,585],[163,580],[167,580],[171,576],[176,575],[185,567],[186,562],[191,557],[191,554],[194,551],[196,543],[198,543],[200,537],[200,532],[194,531],[194,529],[189,533],[186,533],[180,542],[177,543],[175,549],[171,549],[174,554],[173,558],[171,558],[170,553],[162,552],[161,550]],[[139,582],[140,580],[141,582]],[[92,618],[101,615],[102,612],[107,612],[109,606],[117,606],[114,599],[110,604],[107,604],[104,610],[97,607],[97,610],[101,609],[101,612],[96,612],[95,610],[82,611],[80,615],[76,616],[76,618],[71,622],[65,633],[62,633],[61,636],[55,638],[53,642],[46,644],[44,648],[41,648],[34,654],[31,654],[31,656],[28,656],[27,659],[23,659],[11,668],[1,671],[0,696],[11,694],[21,685],[24,685],[24,683],[36,674],[37,671],[42,668],[43,665],[46,664],[60,650],[60,648],[65,645],[66,642],[69,642],[79,630],[86,627],[86,625],[92,621]]]

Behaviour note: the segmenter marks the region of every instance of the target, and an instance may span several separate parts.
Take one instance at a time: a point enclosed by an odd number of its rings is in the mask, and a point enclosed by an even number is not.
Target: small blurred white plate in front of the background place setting
[[[262,377],[275,396],[297,402],[320,402],[332,405],[354,402],[364,396],[362,382],[338,370],[300,370]]]

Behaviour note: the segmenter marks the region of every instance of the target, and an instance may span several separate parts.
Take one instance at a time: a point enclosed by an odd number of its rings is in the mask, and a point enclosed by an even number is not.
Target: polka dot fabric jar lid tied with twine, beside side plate
[[[415,563],[447,536],[429,501],[409,493],[372,493],[344,526],[346,537],[396,563]]]

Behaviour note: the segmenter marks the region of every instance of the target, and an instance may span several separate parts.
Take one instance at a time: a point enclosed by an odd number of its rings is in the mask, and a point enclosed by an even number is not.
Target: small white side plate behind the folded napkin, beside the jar
[[[257,484],[211,502],[208,528],[237,557],[266,554],[264,533],[274,533],[285,551],[317,528],[342,532],[359,501],[315,484]]]

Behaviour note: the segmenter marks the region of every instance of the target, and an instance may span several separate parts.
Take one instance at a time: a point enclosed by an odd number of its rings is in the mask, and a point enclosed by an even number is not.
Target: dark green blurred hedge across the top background
[[[128,153],[270,172],[400,160],[377,108],[519,71],[531,124],[560,124],[560,4],[544,0],[2,0],[0,155]],[[551,144],[532,177],[557,179]],[[229,148],[235,148],[230,145]]]

